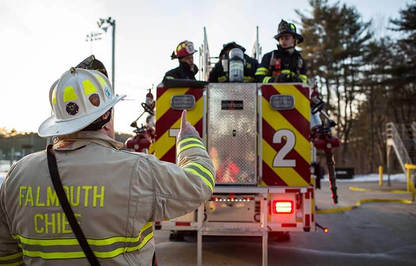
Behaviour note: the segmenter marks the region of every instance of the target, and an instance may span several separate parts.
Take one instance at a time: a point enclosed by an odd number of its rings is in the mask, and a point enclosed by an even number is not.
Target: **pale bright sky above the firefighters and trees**
[[[398,17],[409,1],[341,3],[355,6],[365,20],[373,20],[377,34],[386,35],[391,34],[383,30],[388,18]],[[100,30],[96,23],[100,17],[116,20],[116,93],[134,99],[116,105],[115,129],[131,132],[129,124],[142,113],[140,103],[145,100],[146,89],[152,84],[156,87],[164,73],[177,66],[177,60],[171,60],[170,55],[179,42],[189,40],[199,47],[205,26],[211,56],[218,56],[222,44],[230,41],[243,45],[251,55],[258,25],[259,43],[265,54],[276,47],[273,36],[282,18],[295,24],[299,21],[295,9],[307,12],[310,7],[306,0],[0,0],[0,127],[37,131],[51,113],[50,86],[88,57],[91,49],[106,65],[111,81],[111,28],[107,34]],[[85,41],[91,32],[103,33],[92,46]],[[194,60],[198,65],[197,55]]]

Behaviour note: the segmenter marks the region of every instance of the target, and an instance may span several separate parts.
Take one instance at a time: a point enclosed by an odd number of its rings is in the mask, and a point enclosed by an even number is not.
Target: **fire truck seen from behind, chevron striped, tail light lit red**
[[[204,37],[201,56],[206,80],[210,63],[206,33]],[[263,265],[267,265],[269,236],[316,231],[310,171],[313,146],[328,153],[328,170],[334,179],[332,147],[339,143],[319,117],[322,101],[311,109],[311,95],[305,83],[170,80],[159,85],[155,140],[149,152],[177,163],[176,136],[186,109],[187,120],[199,132],[214,163],[216,185],[203,206],[157,222],[156,229],[196,232],[198,265],[202,265],[204,235],[262,236]]]

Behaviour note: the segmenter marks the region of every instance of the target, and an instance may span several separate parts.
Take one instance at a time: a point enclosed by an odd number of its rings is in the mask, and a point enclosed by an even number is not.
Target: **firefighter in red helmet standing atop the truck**
[[[194,44],[190,41],[183,41],[178,44],[176,49],[170,56],[171,59],[178,59],[179,66],[171,69],[165,74],[165,78],[183,78],[195,80],[195,75],[198,73],[198,67],[194,64],[194,54],[197,52],[194,48]]]

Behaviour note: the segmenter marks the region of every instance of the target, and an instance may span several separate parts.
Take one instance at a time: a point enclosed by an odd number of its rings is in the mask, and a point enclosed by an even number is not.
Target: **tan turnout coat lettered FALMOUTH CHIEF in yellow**
[[[54,145],[75,217],[101,265],[150,265],[153,221],[175,218],[208,200],[212,161],[198,136],[180,137],[178,165],[119,150],[96,131]],[[0,265],[89,265],[50,179],[46,152],[13,165],[0,189]]]

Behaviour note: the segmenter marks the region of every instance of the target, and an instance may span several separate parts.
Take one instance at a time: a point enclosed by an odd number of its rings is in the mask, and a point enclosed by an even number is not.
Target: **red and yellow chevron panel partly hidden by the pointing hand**
[[[156,99],[156,141],[150,146],[150,153],[162,161],[175,163],[176,134],[180,128],[181,110],[171,108],[171,98],[175,95],[193,95],[195,108],[188,110],[187,120],[202,136],[203,88],[158,88]]]

